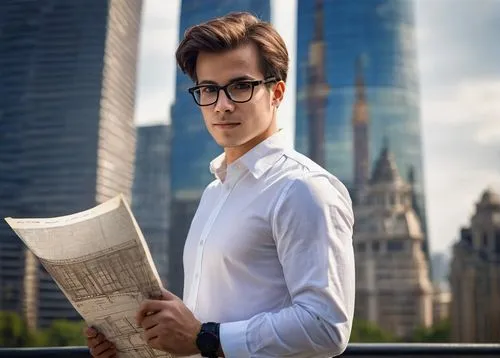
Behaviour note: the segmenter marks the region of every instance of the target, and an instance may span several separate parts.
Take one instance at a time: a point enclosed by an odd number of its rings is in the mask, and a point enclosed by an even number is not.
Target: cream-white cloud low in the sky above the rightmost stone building
[[[427,217],[446,250],[487,186],[500,186],[500,81],[448,87],[422,105]],[[500,191],[500,188],[498,188]]]

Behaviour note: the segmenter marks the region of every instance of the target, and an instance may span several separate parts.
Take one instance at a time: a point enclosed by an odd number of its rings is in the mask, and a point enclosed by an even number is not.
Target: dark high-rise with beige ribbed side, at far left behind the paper
[[[66,215],[119,193],[130,198],[141,7],[140,0],[0,3],[1,217]],[[21,311],[14,300],[23,302],[40,326],[79,318],[0,226],[0,309]]]

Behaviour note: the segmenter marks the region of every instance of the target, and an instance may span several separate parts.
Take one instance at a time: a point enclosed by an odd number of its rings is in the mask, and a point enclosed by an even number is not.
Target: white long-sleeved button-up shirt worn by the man
[[[184,248],[184,302],[220,322],[226,357],[332,357],[355,294],[347,189],[274,134],[205,189]]]

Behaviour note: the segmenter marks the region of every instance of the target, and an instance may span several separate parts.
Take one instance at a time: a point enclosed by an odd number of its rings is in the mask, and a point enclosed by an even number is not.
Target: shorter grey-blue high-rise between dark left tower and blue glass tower
[[[132,211],[163,285],[168,285],[170,126],[137,128]]]

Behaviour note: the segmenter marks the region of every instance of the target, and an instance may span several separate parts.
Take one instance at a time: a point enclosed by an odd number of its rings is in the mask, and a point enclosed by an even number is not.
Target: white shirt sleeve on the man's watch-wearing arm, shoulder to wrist
[[[349,340],[354,314],[354,215],[335,177],[290,182],[273,212],[278,257],[292,304],[221,324],[226,357],[331,357]]]

